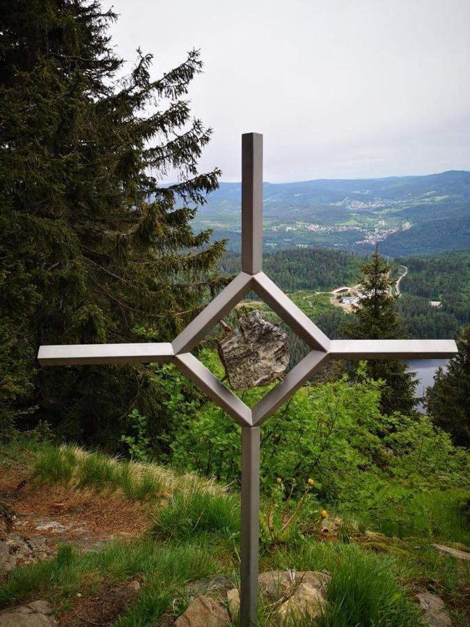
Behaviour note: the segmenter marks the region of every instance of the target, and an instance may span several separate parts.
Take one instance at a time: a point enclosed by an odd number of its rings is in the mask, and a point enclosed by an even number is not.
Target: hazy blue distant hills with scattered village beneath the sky
[[[267,249],[338,248],[389,255],[470,249],[470,172],[263,185]],[[240,249],[240,183],[221,183],[194,226]]]

